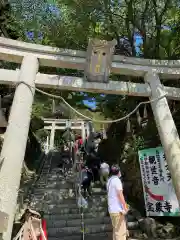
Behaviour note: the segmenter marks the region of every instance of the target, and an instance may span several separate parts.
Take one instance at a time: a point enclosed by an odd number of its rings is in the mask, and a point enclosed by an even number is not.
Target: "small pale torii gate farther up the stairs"
[[[43,121],[46,126],[44,129],[50,130],[50,137],[47,136],[47,149],[54,149],[54,138],[55,132],[57,130],[65,130],[67,127],[70,127],[72,130],[78,130],[81,133],[83,141],[90,134],[90,122],[82,119],[56,119],[56,118],[43,118]]]

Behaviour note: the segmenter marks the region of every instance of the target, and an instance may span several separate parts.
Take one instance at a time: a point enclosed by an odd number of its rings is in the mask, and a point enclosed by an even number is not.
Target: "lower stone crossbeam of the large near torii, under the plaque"
[[[19,81],[19,69],[0,69],[0,84],[15,85]],[[148,83],[134,83],[123,81],[110,81],[109,83],[90,83],[83,78],[71,76],[59,76],[37,73],[35,80],[36,87],[56,88],[60,90],[96,92],[104,94],[129,95],[139,97],[150,97],[151,88]],[[180,89],[163,86],[168,99],[180,100]]]

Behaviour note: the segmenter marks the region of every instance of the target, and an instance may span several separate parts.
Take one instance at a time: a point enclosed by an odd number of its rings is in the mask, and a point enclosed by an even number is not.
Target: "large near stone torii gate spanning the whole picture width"
[[[165,87],[160,79],[179,79],[180,61],[113,56],[111,72],[141,76],[145,83],[86,82],[79,77],[38,73],[39,66],[83,70],[86,52],[63,50],[0,38],[0,59],[20,63],[16,71],[0,69],[1,84],[17,84],[0,155],[0,239],[10,240],[36,87],[149,97],[159,135],[180,202],[180,139],[167,99],[180,100],[180,89]],[[97,67],[97,66],[96,66]],[[99,65],[98,65],[99,69]],[[99,71],[99,70],[98,70]],[[166,94],[166,97],[163,97]]]

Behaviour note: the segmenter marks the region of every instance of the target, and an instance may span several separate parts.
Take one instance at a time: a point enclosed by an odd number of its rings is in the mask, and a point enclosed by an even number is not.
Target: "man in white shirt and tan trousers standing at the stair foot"
[[[120,180],[121,172],[117,165],[110,170],[111,177],[107,182],[108,211],[113,226],[113,240],[126,240],[127,228],[125,215],[128,212]]]

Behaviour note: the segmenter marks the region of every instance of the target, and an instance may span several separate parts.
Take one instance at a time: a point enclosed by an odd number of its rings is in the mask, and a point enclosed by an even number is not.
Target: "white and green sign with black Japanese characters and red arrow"
[[[138,151],[147,216],[180,216],[162,147]]]

